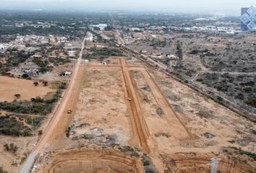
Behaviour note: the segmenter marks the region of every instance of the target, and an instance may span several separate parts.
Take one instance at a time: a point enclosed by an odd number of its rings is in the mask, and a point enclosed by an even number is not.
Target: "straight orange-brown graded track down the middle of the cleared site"
[[[142,110],[140,109],[139,99],[135,92],[135,88],[132,85],[132,79],[130,78],[129,71],[126,68],[126,63],[124,58],[119,58],[121,63],[121,70],[124,76],[124,83],[127,89],[127,96],[129,100],[129,107],[131,108],[131,120],[132,120],[132,130],[133,134],[137,134],[140,140],[140,146],[144,149],[145,152],[150,153],[150,148],[148,146],[148,128],[143,120]]]

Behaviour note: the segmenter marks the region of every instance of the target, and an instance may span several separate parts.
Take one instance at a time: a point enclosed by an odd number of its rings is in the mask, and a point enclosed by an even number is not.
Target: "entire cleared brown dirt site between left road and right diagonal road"
[[[59,138],[54,148],[49,147],[54,154],[40,157],[36,165],[41,170],[144,172],[130,164],[131,159],[140,158],[134,152],[137,149],[148,153],[159,172],[209,172],[210,159],[216,156],[221,158],[221,173],[255,170],[249,154],[235,149],[255,153],[254,123],[161,71],[119,60],[111,60],[114,65],[93,62],[85,66],[69,138]],[[90,145],[95,146],[84,149]],[[126,148],[129,156],[105,151],[129,145],[137,148]],[[116,156],[131,158],[124,161]]]

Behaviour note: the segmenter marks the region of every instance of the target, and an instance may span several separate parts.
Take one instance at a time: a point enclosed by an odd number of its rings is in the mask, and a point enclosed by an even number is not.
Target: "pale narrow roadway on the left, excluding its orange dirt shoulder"
[[[22,169],[20,170],[20,173],[30,172],[30,169],[33,167],[33,164],[35,162],[35,157],[38,154],[40,154],[40,152],[43,152],[43,148],[45,148],[48,144],[48,141],[51,140],[51,133],[54,131],[59,121],[61,121],[61,116],[65,115],[63,114],[63,112],[67,110],[67,103],[69,102],[70,97],[72,97],[73,90],[76,87],[74,83],[77,79],[77,74],[80,70],[80,63],[82,61],[82,52],[84,48],[85,48],[85,38],[82,40],[80,56],[77,59],[76,65],[74,66],[72,79],[69,83],[67,92],[64,95],[64,98],[61,100],[61,104],[57,108],[56,112],[54,112],[54,116],[52,117],[51,122],[48,124],[48,127],[45,130],[45,133],[43,133],[43,136],[40,138],[40,141],[37,143],[35,148],[33,148],[33,151],[31,152],[31,154],[27,157],[27,160],[25,161],[25,164],[23,164]]]

